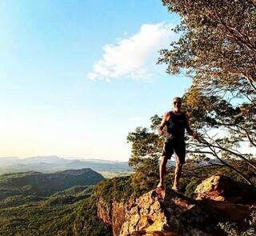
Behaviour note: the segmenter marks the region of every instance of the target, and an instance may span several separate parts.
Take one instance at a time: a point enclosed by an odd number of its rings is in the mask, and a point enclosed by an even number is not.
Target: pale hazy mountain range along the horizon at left
[[[101,159],[65,159],[58,156],[38,156],[31,158],[0,158],[0,174],[21,171],[52,173],[59,170],[91,168],[95,171],[127,171],[128,162]]]

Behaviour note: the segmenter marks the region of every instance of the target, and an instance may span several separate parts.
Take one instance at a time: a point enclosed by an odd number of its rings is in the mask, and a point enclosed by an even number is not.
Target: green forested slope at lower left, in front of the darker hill
[[[76,186],[44,198],[9,197],[1,201],[0,235],[73,235],[72,224],[90,192],[90,186]]]

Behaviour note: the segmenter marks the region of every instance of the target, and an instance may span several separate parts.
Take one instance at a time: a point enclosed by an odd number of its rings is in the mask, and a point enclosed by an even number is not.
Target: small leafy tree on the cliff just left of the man
[[[138,127],[130,132],[127,141],[131,144],[129,165],[134,167],[131,184],[138,195],[154,189],[158,181],[158,159],[162,152],[162,139],[155,129],[161,122],[158,116],[151,118],[150,130]]]

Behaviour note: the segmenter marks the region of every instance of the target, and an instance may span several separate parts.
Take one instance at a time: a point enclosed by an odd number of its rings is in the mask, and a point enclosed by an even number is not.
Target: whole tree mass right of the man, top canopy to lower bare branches
[[[170,50],[161,50],[158,62],[168,65],[167,73],[192,78],[184,96],[186,108],[191,123],[204,134],[201,144],[190,142],[190,151],[213,154],[221,161],[241,158],[256,172],[255,1],[162,2],[180,14],[174,30],[182,36]],[[215,136],[216,130],[222,135]],[[251,152],[239,146],[250,146]],[[230,168],[250,183],[241,171]]]

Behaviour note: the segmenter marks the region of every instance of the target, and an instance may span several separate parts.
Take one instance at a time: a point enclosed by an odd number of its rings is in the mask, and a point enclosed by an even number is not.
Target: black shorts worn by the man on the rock
[[[165,145],[162,148],[162,156],[170,159],[174,152],[176,154],[176,162],[184,164],[186,156],[186,143],[183,140],[166,140]]]

